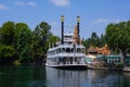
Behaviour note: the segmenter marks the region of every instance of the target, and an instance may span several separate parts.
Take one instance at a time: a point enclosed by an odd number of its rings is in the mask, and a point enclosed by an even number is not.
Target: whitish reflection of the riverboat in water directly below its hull
[[[53,71],[53,72],[50,72]],[[49,87],[81,87],[87,78],[86,71],[47,69]]]

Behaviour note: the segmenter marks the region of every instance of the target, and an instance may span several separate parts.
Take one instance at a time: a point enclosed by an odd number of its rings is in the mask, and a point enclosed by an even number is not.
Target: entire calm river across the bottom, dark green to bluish
[[[130,87],[130,73],[43,66],[1,66],[0,87]]]

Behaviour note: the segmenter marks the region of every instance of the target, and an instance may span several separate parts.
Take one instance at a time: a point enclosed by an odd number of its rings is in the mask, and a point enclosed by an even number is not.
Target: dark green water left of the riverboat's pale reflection
[[[0,87],[47,87],[46,69],[34,66],[0,67]]]

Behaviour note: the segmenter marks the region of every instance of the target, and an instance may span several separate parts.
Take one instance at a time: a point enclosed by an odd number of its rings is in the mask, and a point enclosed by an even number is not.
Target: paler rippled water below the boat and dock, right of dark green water
[[[125,75],[122,72],[107,70],[65,71],[47,69],[49,87],[130,87],[130,74]]]

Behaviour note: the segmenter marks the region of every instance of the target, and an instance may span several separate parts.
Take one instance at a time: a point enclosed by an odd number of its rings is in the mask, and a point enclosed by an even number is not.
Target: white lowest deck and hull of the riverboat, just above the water
[[[87,69],[84,58],[51,58],[47,59],[47,66],[55,69]]]

